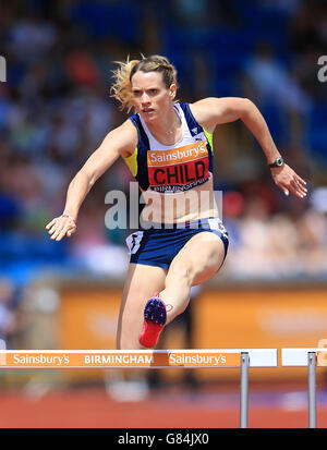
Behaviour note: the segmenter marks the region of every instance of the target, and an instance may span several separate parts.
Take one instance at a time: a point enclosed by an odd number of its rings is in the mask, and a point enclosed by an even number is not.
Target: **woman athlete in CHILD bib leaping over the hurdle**
[[[95,182],[122,157],[145,198],[141,230],[126,240],[131,259],[120,307],[117,348],[154,348],[162,328],[181,314],[192,285],[221,267],[228,234],[213,188],[213,133],[242,120],[259,143],[275,183],[303,198],[305,181],[276,148],[267,124],[246,98],[178,102],[177,72],[152,56],[119,64],[113,97],[131,115],[112,130],[71,181],[63,214],[46,229],[52,240],[76,231],[80,207]]]

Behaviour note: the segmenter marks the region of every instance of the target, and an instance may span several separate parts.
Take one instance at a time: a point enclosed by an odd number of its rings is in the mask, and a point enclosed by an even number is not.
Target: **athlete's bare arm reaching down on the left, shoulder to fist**
[[[76,231],[78,210],[92,186],[120,156],[132,155],[136,145],[137,130],[130,120],[107,134],[71,181],[63,214],[46,226],[52,240],[60,241],[65,235],[70,238]]]

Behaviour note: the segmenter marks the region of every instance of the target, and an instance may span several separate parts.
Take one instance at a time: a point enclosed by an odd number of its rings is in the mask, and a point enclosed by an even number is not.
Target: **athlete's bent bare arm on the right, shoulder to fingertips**
[[[257,107],[247,98],[222,97],[205,98],[190,105],[196,121],[208,132],[213,133],[216,125],[242,120],[263,148],[267,163],[280,157],[267,123]],[[286,195],[292,192],[300,198],[306,195],[306,182],[293,169],[283,163],[281,167],[271,168],[275,183]]]

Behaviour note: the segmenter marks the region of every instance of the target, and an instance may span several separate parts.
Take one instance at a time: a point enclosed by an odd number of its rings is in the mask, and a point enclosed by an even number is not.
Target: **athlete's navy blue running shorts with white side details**
[[[217,234],[228,250],[228,232],[217,217],[191,220],[183,224],[173,223],[159,228],[159,224],[142,229],[126,239],[130,263],[145,264],[168,269],[172,259],[192,236],[203,231]],[[167,228],[169,227],[169,228]],[[223,258],[223,260],[225,260]]]

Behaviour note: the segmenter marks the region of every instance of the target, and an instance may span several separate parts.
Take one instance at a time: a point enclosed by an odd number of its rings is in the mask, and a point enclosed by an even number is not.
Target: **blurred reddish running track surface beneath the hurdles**
[[[327,401],[317,396],[319,428],[327,427]],[[222,391],[167,389],[141,402],[113,401],[105,387],[56,390],[41,398],[0,393],[0,428],[237,428],[237,387]],[[303,390],[250,391],[250,428],[306,428]]]

